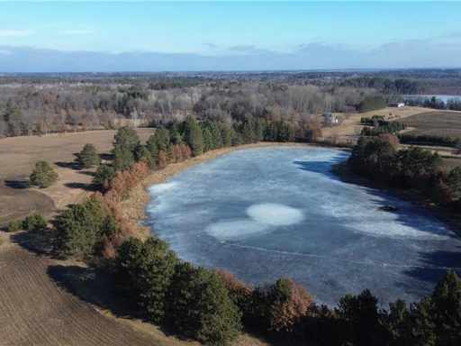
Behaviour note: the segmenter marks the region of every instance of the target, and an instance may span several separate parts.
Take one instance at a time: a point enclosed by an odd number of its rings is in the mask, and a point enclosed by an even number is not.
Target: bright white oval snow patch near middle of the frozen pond
[[[288,226],[301,223],[304,219],[303,211],[288,205],[276,203],[262,203],[251,205],[247,214],[258,223],[266,223],[273,226]]]

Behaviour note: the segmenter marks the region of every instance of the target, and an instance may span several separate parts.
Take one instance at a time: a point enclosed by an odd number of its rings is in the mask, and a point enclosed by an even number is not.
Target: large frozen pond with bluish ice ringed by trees
[[[407,202],[339,181],[330,167],[347,157],[307,147],[234,151],[151,187],[149,223],[180,258],[249,283],[294,278],[326,304],[364,288],[382,304],[414,301],[461,266],[461,241]]]

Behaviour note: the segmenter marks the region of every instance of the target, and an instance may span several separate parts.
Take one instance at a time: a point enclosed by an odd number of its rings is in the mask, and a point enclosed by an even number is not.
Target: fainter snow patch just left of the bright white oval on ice
[[[221,241],[241,239],[256,235],[267,230],[267,225],[250,220],[233,220],[212,223],[206,227],[205,232]]]

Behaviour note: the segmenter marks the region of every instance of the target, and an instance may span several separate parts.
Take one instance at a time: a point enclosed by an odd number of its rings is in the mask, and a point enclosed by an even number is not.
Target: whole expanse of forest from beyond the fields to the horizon
[[[0,136],[158,125],[191,114],[227,123],[306,122],[325,111],[373,110],[402,95],[428,93],[428,86],[459,94],[458,76],[458,70],[5,75]]]

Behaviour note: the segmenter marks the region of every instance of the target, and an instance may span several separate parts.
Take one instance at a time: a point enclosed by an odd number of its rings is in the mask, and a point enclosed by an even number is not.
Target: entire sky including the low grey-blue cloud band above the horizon
[[[1,2],[0,9],[0,72],[461,67],[455,2]]]

